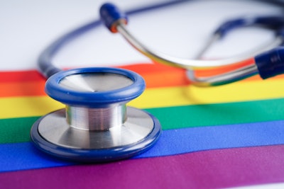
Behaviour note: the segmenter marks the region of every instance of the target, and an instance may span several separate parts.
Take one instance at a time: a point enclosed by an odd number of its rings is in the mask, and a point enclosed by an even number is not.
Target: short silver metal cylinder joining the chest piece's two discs
[[[109,108],[84,108],[66,105],[66,120],[70,127],[80,130],[102,131],[120,127],[126,121],[126,105]]]

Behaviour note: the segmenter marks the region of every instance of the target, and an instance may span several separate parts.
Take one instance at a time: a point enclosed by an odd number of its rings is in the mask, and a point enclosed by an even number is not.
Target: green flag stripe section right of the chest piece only
[[[163,130],[284,119],[284,99],[146,109]]]

